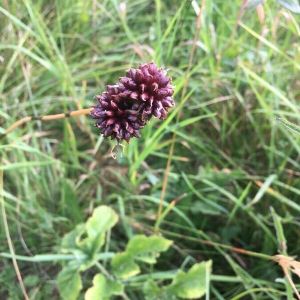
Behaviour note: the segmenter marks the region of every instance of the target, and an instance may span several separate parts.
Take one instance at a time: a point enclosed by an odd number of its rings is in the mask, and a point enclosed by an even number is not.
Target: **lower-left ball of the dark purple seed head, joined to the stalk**
[[[132,136],[140,137],[138,130],[145,122],[141,121],[139,111],[132,108],[134,100],[118,86],[107,85],[106,90],[95,96],[99,104],[93,105],[90,112],[90,116],[97,119],[95,126],[104,136],[116,138],[118,142],[121,139],[129,142]]]

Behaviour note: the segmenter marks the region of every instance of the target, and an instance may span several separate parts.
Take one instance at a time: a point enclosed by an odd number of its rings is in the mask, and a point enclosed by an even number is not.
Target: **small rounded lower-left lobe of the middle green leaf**
[[[111,269],[117,278],[126,279],[132,277],[140,272],[138,264],[133,261],[130,253],[117,253],[111,259]]]

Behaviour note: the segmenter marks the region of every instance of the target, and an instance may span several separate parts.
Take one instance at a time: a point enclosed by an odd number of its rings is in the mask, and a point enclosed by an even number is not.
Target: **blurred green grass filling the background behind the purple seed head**
[[[275,1],[241,7],[238,0],[206,1],[179,122],[178,109],[170,111],[169,122],[152,120],[122,157],[111,158],[115,142],[99,136],[88,116],[32,121],[2,141],[3,196],[15,253],[56,253],[63,234],[101,203],[121,216],[111,232],[114,251],[133,233],[154,232],[175,131],[164,208],[174,199],[176,205],[160,222],[175,247],[156,270],[211,258],[213,274],[223,276],[211,282],[211,299],[254,287],[282,290],[292,299],[284,279],[275,282],[283,277],[276,264],[192,239],[299,254],[300,139],[275,117],[300,119],[300,19]],[[178,105],[195,19],[189,0],[2,0],[1,132],[23,116],[86,108],[125,69],[152,59],[169,68]],[[276,234],[274,214],[283,237]],[[2,226],[0,240],[0,251],[8,252]],[[59,298],[57,263],[18,265],[30,299]],[[86,286],[92,275],[84,274]],[[142,298],[140,286],[132,288],[130,298]],[[22,298],[6,258],[0,260],[0,298]],[[260,290],[249,298],[278,294]]]

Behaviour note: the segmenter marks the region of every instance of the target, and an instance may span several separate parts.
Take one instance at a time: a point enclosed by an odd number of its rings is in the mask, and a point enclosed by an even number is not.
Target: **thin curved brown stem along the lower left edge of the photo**
[[[19,281],[21,290],[23,292],[24,298],[25,298],[25,300],[29,300],[29,297],[27,295],[27,292],[26,292],[26,289],[25,289],[25,286],[24,286],[24,283],[23,283],[23,280],[21,277],[20,270],[17,266],[17,262],[16,262],[16,259],[14,256],[12,241],[11,241],[11,238],[9,235],[8,223],[7,223],[6,212],[5,212],[4,197],[3,197],[3,170],[0,170],[0,202],[1,202],[2,217],[3,217],[3,225],[4,225],[4,230],[5,230],[8,247],[9,247],[9,252],[12,256],[13,267],[15,269],[15,273],[16,273],[17,279]]]

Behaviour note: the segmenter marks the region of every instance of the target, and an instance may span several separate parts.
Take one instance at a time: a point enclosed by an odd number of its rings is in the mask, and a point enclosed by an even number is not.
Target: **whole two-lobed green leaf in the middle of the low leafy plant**
[[[114,275],[118,278],[129,278],[140,272],[139,266],[134,260],[146,263],[156,263],[160,252],[166,251],[171,240],[160,236],[135,235],[132,237],[124,252],[116,254],[111,259],[111,267]]]

